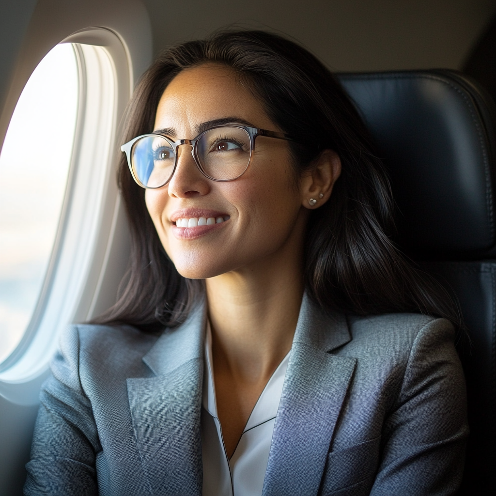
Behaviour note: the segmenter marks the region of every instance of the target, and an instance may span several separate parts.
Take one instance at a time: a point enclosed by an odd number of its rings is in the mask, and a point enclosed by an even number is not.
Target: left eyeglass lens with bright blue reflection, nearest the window
[[[146,187],[165,185],[174,171],[174,161],[174,148],[162,136],[145,136],[131,151],[134,175]]]

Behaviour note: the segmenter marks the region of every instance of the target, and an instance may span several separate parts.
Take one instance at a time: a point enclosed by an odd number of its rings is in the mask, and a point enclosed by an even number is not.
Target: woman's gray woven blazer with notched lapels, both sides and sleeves
[[[44,384],[25,495],[201,494],[205,311],[160,337],[74,325]],[[451,495],[468,429],[453,328],[304,297],[262,494]]]

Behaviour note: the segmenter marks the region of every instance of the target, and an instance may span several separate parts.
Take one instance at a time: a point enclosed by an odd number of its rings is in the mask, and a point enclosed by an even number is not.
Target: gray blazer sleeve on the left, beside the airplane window
[[[76,326],[62,336],[40,401],[24,495],[98,495],[95,454],[101,448],[79,378]]]

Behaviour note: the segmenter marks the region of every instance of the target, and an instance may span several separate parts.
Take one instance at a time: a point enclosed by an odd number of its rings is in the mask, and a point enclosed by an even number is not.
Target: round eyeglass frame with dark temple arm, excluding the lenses
[[[226,127],[235,127],[237,129],[242,129],[242,130],[244,130],[248,134],[249,141],[250,141],[249,159],[248,159],[247,166],[245,167],[245,170],[241,174],[239,174],[238,176],[236,176],[235,178],[231,178],[231,179],[216,179],[216,178],[213,178],[213,177],[209,176],[203,170],[203,167],[201,166],[200,161],[198,159],[197,146],[196,146],[196,144],[198,143],[198,140],[204,134],[206,134],[207,132],[209,132],[209,131],[211,131],[213,129],[222,129],[222,128],[226,128]],[[148,137],[148,136],[160,136],[160,137],[166,139],[169,142],[169,144],[171,145],[172,149],[174,150],[174,168],[172,170],[172,173],[171,173],[169,179],[163,185],[161,185],[161,186],[145,186],[136,177],[136,175],[134,174],[133,168],[132,168],[131,157],[132,157],[132,151],[133,151],[133,148],[134,148],[134,144],[138,140],[140,140],[141,138],[145,138],[145,137]],[[169,181],[174,176],[174,173],[176,172],[176,167],[178,165],[178,148],[181,145],[190,145],[191,146],[191,155],[193,156],[193,160],[194,160],[194,162],[196,164],[196,167],[198,167],[198,170],[206,178],[211,179],[212,181],[227,182],[227,181],[234,181],[234,180],[238,179],[239,177],[243,176],[243,174],[245,174],[245,172],[247,171],[248,166],[249,166],[249,164],[251,162],[251,156],[253,154],[253,149],[255,148],[255,138],[257,136],[267,136],[269,138],[284,139],[286,141],[298,141],[297,139],[293,138],[292,136],[289,136],[288,134],[284,134],[282,132],[269,131],[268,129],[260,129],[258,127],[249,127],[249,126],[240,125],[240,124],[226,124],[226,125],[217,125],[217,126],[209,127],[208,129],[205,129],[204,131],[200,132],[200,134],[198,134],[193,139],[178,139],[177,141],[173,141],[172,139],[170,139],[169,137],[167,137],[165,134],[162,134],[160,132],[151,132],[151,133],[148,133],[148,134],[141,134],[139,136],[136,136],[135,138],[132,138],[127,143],[124,143],[124,145],[121,146],[121,151],[124,152],[125,155],[126,155],[127,165],[129,166],[129,171],[131,172],[132,178],[134,179],[134,181],[136,182],[136,184],[138,186],[141,186],[141,187],[143,187],[145,189],[158,189],[158,188],[161,188],[161,187],[165,186],[167,183],[169,183]]]

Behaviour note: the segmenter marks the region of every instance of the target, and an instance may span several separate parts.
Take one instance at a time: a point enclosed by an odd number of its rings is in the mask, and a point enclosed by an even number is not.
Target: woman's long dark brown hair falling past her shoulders
[[[286,134],[317,146],[290,144],[300,173],[319,150],[340,157],[342,173],[331,197],[310,212],[305,241],[306,291],[324,310],[354,314],[421,312],[455,324],[449,297],[411,265],[391,241],[393,201],[372,139],[332,73],[307,50],[263,31],[222,31],[169,48],[142,76],[124,118],[123,141],[153,130],[159,100],[183,69],[205,63],[230,67]],[[162,247],[147,212],[144,189],[119,168],[130,227],[130,267],[120,297],[95,319],[160,331],[183,322],[204,291],[182,277]]]

